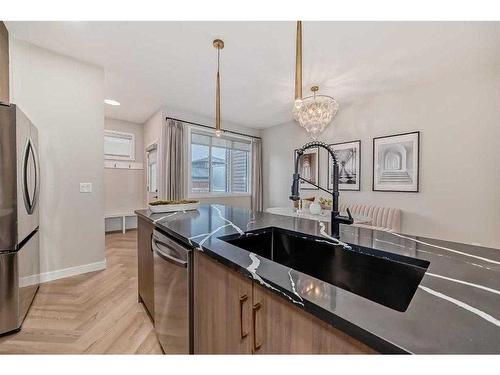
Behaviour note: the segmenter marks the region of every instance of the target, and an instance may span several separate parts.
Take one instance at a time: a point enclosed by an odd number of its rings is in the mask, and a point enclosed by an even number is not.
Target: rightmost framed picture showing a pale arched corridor
[[[418,192],[420,132],[373,138],[373,191]]]

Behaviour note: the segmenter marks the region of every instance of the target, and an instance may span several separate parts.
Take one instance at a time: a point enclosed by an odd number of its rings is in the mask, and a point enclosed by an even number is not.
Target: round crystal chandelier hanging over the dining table
[[[296,99],[293,117],[308,133],[314,137],[321,133],[332,122],[339,105],[331,96],[318,95],[318,86],[311,87],[312,95]]]

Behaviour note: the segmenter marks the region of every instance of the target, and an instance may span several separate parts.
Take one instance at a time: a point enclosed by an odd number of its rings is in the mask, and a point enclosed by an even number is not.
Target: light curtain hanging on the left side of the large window
[[[161,129],[158,170],[161,199],[184,198],[184,124],[168,119]]]

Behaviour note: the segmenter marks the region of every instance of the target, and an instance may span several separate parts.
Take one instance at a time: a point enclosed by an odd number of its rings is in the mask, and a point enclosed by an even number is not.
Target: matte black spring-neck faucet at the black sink
[[[304,146],[299,148],[297,150],[297,157],[295,158],[295,173],[293,174],[293,182],[292,182],[292,195],[290,195],[290,199],[293,201],[298,201],[300,199],[299,195],[299,183],[300,180],[303,180],[313,186],[316,186],[317,188],[326,191],[330,194],[330,191],[325,190],[318,185],[312,183],[311,181],[307,181],[306,179],[300,177],[299,173],[299,161],[300,157],[304,154],[304,151],[307,150],[308,148],[313,148],[313,147],[322,147],[326,149],[326,151],[329,152],[333,159],[333,190],[331,192],[332,194],[332,213],[331,213],[331,234],[332,237],[334,238],[339,238],[340,237],[340,223],[342,224],[352,224],[354,223],[354,219],[352,218],[351,211],[347,209],[347,215],[348,216],[343,216],[340,215],[339,212],[339,165],[337,163],[337,158],[335,157],[335,153],[333,150],[328,146],[326,143],[319,142],[319,141],[312,141],[309,143],[306,143]]]

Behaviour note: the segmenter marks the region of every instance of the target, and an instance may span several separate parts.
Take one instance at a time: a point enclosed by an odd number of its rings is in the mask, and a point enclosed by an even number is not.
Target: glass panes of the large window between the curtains
[[[250,141],[190,131],[190,195],[250,193]]]

